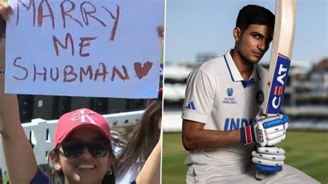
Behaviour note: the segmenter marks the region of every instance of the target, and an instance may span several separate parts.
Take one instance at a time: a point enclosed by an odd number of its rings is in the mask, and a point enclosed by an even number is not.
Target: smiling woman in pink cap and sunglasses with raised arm
[[[0,15],[11,9],[0,3]],[[3,26],[1,27],[3,30]],[[1,32],[3,33],[3,32]],[[5,39],[1,39],[1,56]],[[0,58],[0,133],[10,183],[115,183],[112,167],[115,157],[107,120],[89,109],[64,114],[57,123],[50,158],[53,176],[38,167],[19,120],[16,95],[4,94],[4,58]]]

